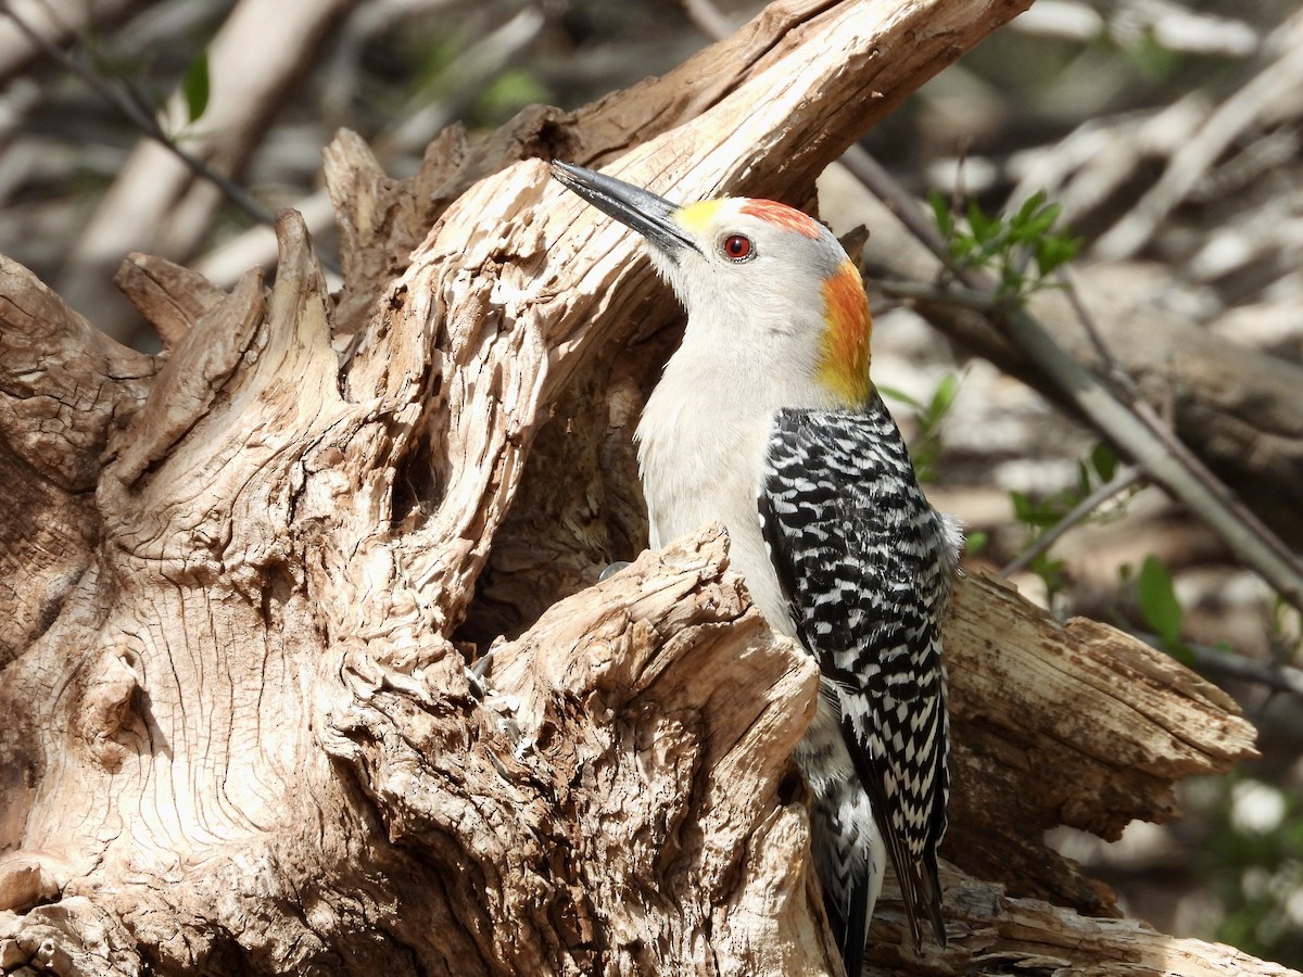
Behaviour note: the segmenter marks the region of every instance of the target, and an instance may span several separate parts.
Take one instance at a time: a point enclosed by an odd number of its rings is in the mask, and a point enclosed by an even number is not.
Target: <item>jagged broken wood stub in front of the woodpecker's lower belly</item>
[[[494,651],[482,705],[378,688],[331,715],[391,838],[515,972],[758,972],[775,947],[784,973],[829,968],[788,770],[817,672],[724,546],[705,531],[556,604]]]

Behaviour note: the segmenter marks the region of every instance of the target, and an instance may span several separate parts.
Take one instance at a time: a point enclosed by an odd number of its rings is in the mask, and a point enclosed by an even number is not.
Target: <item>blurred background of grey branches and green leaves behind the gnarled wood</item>
[[[337,128],[361,133],[390,175],[408,176],[450,124],[474,134],[532,103],[576,108],[668,70],[761,7],[9,0],[0,253],[100,328],[152,350],[156,337],[113,288],[121,259],[159,254],[225,288],[250,266],[272,267],[263,220],[292,206],[332,262],[321,151]],[[1136,341],[1158,320],[1195,327],[1179,335],[1204,350],[1197,386],[1280,414],[1273,438],[1248,439],[1244,451],[1280,456],[1261,470],[1274,473],[1286,504],[1260,512],[1298,554],[1298,3],[1040,0],[861,145],[909,194],[933,194],[934,207],[959,215],[975,206],[977,221],[1044,191],[1055,223],[1041,233],[1068,242],[1083,294],[1108,296],[1126,318],[1110,326],[1134,323]],[[869,223],[873,233],[860,184],[834,169],[821,190],[838,232]],[[976,227],[955,223],[960,236]],[[893,272],[872,262],[869,271]],[[1059,616],[1088,615],[1157,644],[1233,694],[1260,729],[1260,761],[1182,786],[1183,818],[1132,825],[1113,844],[1071,831],[1055,844],[1164,931],[1303,967],[1298,610],[1200,518],[1132,477],[1098,434],[938,331],[899,292],[870,292],[876,380],[933,502],[968,524],[968,565],[1007,573]],[[1252,358],[1239,357],[1246,350]],[[1160,404],[1197,413],[1203,391],[1181,386],[1191,373],[1164,370],[1164,357],[1187,352],[1156,354],[1147,393],[1157,384]],[[1287,392],[1295,374],[1294,400],[1272,393]],[[1214,439],[1191,447],[1216,453]]]

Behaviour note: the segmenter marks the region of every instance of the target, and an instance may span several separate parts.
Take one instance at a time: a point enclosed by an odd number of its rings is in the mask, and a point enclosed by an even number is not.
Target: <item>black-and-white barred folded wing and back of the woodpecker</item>
[[[780,410],[760,498],[770,558],[900,881],[945,942],[936,849],[946,828],[941,617],[956,531],[928,504],[895,422]]]

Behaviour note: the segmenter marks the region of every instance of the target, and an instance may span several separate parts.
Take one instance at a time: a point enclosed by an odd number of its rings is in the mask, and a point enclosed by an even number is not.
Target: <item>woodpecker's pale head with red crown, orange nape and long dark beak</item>
[[[864,404],[872,319],[833,232],[786,203],[722,197],[678,205],[569,163],[552,176],[650,245],[688,310],[685,343],[783,357],[835,408]]]

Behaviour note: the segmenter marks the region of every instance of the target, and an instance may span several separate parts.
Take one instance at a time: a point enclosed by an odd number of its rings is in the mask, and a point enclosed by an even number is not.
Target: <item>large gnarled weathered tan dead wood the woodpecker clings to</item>
[[[1016,9],[778,4],[589,113],[444,137],[412,181],[344,135],[339,302],[288,212],[270,292],[136,259],[165,360],[8,274],[0,307],[26,311],[0,336],[30,353],[0,361],[0,461],[63,491],[82,542],[66,564],[30,530],[5,541],[30,584],[0,590],[21,625],[0,673],[0,965],[835,972],[787,762],[809,660],[749,608],[718,529],[586,586],[641,542],[627,435],[672,302],[543,164],[496,171],[632,146],[619,172],[659,190],[803,198]],[[33,413],[64,403],[79,413]],[[480,690],[465,664],[495,634]],[[985,580],[947,640],[952,948],[896,950],[887,898],[876,965],[1227,972],[1216,947],[1080,916],[1111,898],[1041,836],[1169,817],[1175,779],[1252,753],[1233,703]]]

